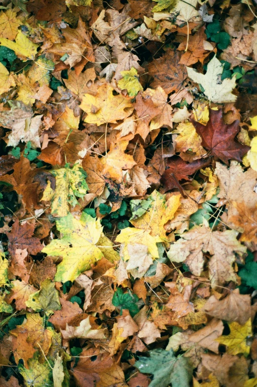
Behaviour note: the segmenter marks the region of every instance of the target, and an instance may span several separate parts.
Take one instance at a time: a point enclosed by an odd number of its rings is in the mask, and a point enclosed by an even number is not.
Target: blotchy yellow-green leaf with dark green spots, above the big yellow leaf
[[[66,165],[66,168],[51,171],[55,177],[55,190],[51,188],[50,181],[44,190],[42,200],[51,201],[53,216],[67,216],[69,214],[69,204],[74,207],[78,204],[76,197],[83,198],[88,190],[86,183],[87,174],[79,164],[74,164],[73,168]]]

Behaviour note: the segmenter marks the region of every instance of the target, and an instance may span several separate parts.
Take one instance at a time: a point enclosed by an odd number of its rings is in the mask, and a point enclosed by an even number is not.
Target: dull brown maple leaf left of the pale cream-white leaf
[[[148,72],[153,77],[151,87],[161,86],[169,94],[180,91],[187,77],[186,68],[180,64],[181,53],[168,48],[165,54],[154,59],[148,66]]]

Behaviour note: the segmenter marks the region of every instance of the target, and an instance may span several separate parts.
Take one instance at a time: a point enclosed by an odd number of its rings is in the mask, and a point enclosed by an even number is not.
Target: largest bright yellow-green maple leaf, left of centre
[[[56,227],[63,237],[52,240],[42,253],[63,257],[57,266],[55,281],[73,281],[81,272],[89,269],[91,263],[103,257],[97,247],[102,233],[100,219],[96,221],[86,214],[84,219],[77,220],[69,213],[56,219]]]

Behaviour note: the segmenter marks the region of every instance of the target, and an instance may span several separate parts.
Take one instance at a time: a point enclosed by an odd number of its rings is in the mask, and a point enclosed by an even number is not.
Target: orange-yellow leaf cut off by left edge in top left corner
[[[16,8],[17,9],[17,8]],[[17,12],[14,9],[6,9],[0,14],[0,38],[13,41],[18,33],[22,22],[16,18]]]

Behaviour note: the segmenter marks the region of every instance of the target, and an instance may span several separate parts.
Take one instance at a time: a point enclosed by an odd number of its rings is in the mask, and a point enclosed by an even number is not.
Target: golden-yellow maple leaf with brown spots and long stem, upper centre
[[[133,108],[129,99],[123,95],[113,95],[113,88],[104,84],[98,88],[96,96],[85,94],[80,108],[87,113],[85,122],[97,126],[116,123],[131,115]]]

